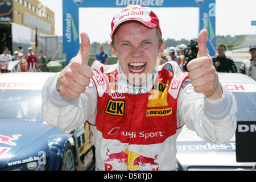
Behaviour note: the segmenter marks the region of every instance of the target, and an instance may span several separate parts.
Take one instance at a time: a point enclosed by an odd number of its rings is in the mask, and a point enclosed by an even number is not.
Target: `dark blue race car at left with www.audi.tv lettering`
[[[0,74],[0,171],[95,169],[88,123],[68,131],[43,119],[41,93],[52,74]]]

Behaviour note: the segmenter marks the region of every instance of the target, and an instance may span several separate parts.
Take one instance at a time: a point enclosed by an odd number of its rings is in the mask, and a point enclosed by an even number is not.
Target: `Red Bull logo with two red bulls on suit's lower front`
[[[107,149],[106,155],[108,156],[107,159],[104,160],[105,163],[105,170],[112,171],[113,166],[109,164],[110,162],[118,162],[123,163],[127,166],[128,170],[137,169],[140,166],[151,166],[152,171],[158,171],[158,163],[156,160],[158,159],[158,154],[154,156],[154,158],[150,158],[148,156],[139,155],[136,152],[132,151],[121,151],[121,152],[113,152],[109,154],[110,150]]]

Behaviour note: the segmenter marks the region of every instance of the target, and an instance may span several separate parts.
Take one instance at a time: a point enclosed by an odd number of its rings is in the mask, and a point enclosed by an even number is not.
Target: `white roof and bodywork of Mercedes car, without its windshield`
[[[219,73],[222,84],[230,92],[250,92],[256,94],[256,81],[241,73]],[[238,102],[237,105],[240,103]],[[254,103],[254,108],[256,103]],[[239,107],[238,107],[239,109]],[[251,112],[251,111],[250,111]],[[256,121],[256,109],[253,113]],[[195,131],[183,126],[177,138],[177,169],[184,171],[194,170],[251,170],[255,162],[236,162],[236,137],[228,143],[214,144],[203,141]]]

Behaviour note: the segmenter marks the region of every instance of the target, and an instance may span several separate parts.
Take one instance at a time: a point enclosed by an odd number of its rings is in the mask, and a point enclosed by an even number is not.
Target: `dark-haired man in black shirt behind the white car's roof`
[[[217,72],[237,72],[236,64],[231,57],[225,55],[226,46],[224,44],[218,45],[218,55],[213,56],[213,65]]]

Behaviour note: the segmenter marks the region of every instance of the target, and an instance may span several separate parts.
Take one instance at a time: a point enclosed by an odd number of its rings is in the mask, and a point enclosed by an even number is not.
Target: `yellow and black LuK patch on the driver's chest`
[[[125,101],[109,100],[105,113],[110,115],[123,116],[125,114]]]

